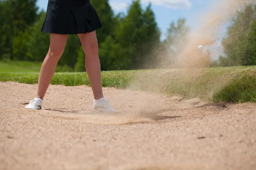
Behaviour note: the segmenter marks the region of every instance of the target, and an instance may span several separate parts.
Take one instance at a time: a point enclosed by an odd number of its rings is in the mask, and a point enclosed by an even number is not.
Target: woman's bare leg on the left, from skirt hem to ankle
[[[41,71],[38,79],[38,91],[36,98],[44,99],[47,88],[52,80],[55,73],[55,69],[58,60],[61,58],[66,43],[68,35],[63,34],[50,34],[50,46],[47,56],[41,67]]]

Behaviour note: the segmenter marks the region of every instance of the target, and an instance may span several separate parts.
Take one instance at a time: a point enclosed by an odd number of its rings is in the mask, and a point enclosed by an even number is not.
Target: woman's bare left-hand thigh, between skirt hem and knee
[[[52,52],[64,51],[67,44],[67,37],[67,34],[50,34],[49,50]]]

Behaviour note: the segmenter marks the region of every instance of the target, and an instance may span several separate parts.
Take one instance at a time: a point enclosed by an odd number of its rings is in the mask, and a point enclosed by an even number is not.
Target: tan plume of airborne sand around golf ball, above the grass
[[[201,26],[189,34],[183,50],[178,56],[177,65],[182,67],[209,66],[211,54],[221,54],[221,41],[224,28],[232,19],[236,11],[253,3],[253,0],[219,0],[200,18]],[[204,45],[205,51],[197,50],[198,45]]]

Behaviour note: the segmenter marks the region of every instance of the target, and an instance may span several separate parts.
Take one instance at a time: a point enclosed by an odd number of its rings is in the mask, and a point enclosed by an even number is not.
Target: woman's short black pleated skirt
[[[90,0],[49,0],[42,32],[85,34],[101,27]]]

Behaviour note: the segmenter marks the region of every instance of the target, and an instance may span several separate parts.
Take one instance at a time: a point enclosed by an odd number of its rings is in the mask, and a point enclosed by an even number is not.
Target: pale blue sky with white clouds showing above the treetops
[[[141,0],[143,8],[152,3],[158,27],[162,31],[162,39],[169,24],[185,17],[187,25],[192,29],[198,27],[198,17],[217,0]],[[126,11],[132,0],[110,0],[111,7],[115,13]],[[38,6],[46,10],[48,0],[38,0]],[[100,16],[99,16],[100,17]]]

